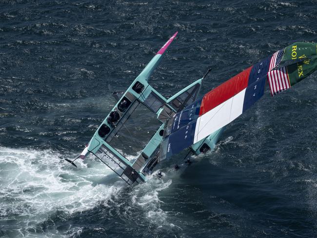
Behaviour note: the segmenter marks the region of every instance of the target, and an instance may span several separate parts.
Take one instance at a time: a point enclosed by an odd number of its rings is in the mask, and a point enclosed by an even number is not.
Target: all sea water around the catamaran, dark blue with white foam
[[[164,179],[129,188],[93,157],[64,162],[176,31],[150,81],[165,97],[208,67],[202,93],[316,42],[317,1],[0,2],[1,238],[317,237],[316,73],[267,88],[214,152]],[[144,113],[120,144],[131,158],[157,129]]]

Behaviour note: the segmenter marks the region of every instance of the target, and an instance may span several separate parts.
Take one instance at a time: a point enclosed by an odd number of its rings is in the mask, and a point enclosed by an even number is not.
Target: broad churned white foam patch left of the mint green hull
[[[75,168],[62,158],[52,150],[0,147],[1,218],[15,218],[16,226],[26,231],[32,221],[44,221],[57,210],[72,214],[91,209],[125,186],[100,183],[112,171],[99,161],[90,159],[86,169],[83,161],[76,162]]]

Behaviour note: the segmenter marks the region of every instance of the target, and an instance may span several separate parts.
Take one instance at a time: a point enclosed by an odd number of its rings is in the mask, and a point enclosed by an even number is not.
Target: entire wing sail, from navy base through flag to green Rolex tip
[[[302,56],[300,60],[294,57],[295,48]],[[316,52],[316,44],[294,43],[187,106],[166,124],[160,160],[179,153],[238,118],[263,96],[266,79],[274,95],[313,73],[317,70]],[[286,61],[289,65],[278,68]]]

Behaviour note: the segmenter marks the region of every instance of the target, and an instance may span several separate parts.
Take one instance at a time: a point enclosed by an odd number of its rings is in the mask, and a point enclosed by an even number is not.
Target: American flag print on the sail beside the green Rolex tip
[[[282,67],[277,70],[272,70],[280,63],[283,56],[284,56],[284,51],[279,50],[276,53],[274,53],[270,61],[267,78],[269,80],[272,96],[291,87],[290,79],[288,78],[286,67]]]

